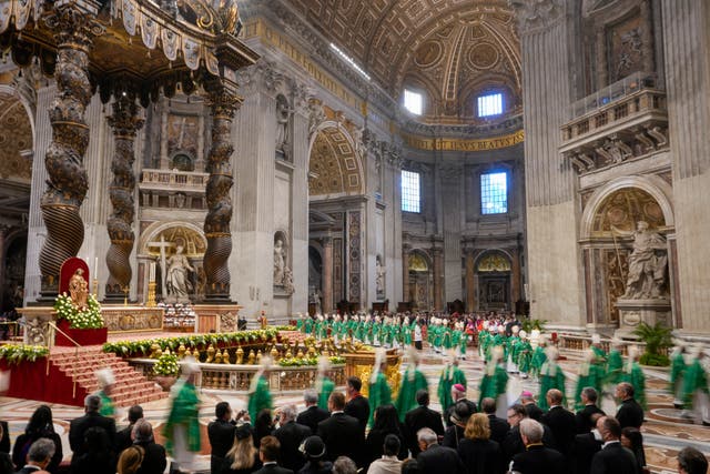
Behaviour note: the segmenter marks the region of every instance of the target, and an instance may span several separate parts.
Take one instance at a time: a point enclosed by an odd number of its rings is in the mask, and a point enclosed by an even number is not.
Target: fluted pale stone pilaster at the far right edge
[[[707,332],[710,273],[699,262],[710,261],[710,6],[694,0],[661,2],[669,135],[673,172],[673,211],[678,280],[676,321],[683,331]],[[676,256],[676,255],[673,255]]]

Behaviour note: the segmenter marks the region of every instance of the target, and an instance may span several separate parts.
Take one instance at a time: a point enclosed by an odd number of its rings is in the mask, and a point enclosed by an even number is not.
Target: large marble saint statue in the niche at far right
[[[661,297],[666,282],[668,254],[666,239],[648,229],[648,222],[637,222],[633,252],[629,255],[629,273],[623,299]],[[616,229],[615,229],[616,230]]]

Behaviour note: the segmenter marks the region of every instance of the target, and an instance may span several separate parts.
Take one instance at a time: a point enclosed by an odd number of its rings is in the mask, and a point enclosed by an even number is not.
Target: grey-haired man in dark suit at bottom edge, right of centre
[[[535,420],[520,421],[520,437],[525,452],[513,457],[513,471],[525,474],[565,474],[565,456],[542,444],[542,425]]]

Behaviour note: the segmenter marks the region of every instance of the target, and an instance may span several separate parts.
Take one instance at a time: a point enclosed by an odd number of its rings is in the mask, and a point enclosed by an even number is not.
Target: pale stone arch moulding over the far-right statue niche
[[[625,177],[610,181],[590,196],[580,221],[579,235],[581,240],[589,240],[595,235],[595,224],[598,223],[601,208],[619,191],[648,194],[658,204],[662,213],[663,225],[667,228],[674,226],[670,185],[658,177]]]

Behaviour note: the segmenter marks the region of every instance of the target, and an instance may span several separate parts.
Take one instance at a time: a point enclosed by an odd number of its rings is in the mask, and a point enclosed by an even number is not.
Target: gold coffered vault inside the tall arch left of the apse
[[[310,144],[310,195],[359,195],[365,193],[365,173],[357,145],[335,121],[321,123]]]

